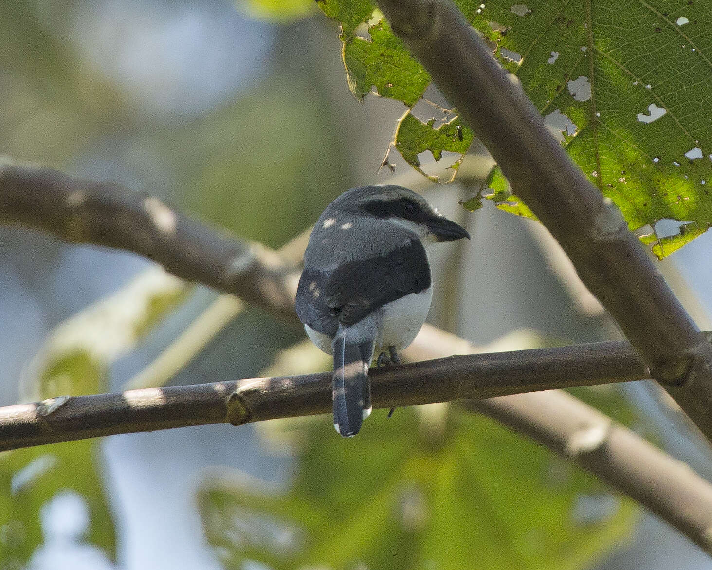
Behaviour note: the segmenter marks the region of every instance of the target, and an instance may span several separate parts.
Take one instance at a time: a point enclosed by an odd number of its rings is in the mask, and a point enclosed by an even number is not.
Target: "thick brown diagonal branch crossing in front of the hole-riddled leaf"
[[[378,5],[486,145],[515,194],[561,244],[652,377],[712,440],[712,346],[618,209],[572,162],[518,79],[501,68],[451,1],[378,0]]]

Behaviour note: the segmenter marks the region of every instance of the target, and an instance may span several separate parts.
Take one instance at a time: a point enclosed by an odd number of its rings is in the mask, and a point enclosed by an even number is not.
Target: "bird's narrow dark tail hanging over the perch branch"
[[[349,343],[343,335],[334,339],[334,427],[344,437],[356,435],[371,413],[368,367],[373,350],[373,341]]]

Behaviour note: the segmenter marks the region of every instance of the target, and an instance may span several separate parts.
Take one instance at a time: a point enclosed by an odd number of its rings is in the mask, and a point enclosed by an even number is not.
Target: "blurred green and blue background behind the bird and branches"
[[[0,155],[117,180],[274,248],[349,187],[406,185],[473,238],[437,252],[431,323],[483,350],[619,338],[543,228],[490,203],[459,206],[486,172],[478,149],[471,176],[447,186],[395,153],[395,174],[378,171],[402,103],[352,97],[337,26],[320,12],[278,21],[217,0],[14,0],[0,16]],[[711,242],[658,265],[706,330]],[[148,385],[161,373],[147,367],[206,315],[215,332],[162,380],[328,368],[300,328],[229,303],[223,316],[236,316],[221,321],[218,301],[135,255],[0,227],[0,404]],[[576,395],[712,477],[708,447],[651,383]],[[441,405],[391,420],[377,410],[346,443],[330,424],[1,454],[0,568],[712,568],[675,529],[490,420]]]

